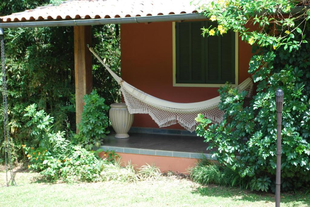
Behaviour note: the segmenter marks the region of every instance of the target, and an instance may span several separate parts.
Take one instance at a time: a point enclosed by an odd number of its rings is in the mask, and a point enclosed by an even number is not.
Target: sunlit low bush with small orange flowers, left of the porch
[[[102,180],[100,173],[103,164],[112,162],[114,153],[108,161],[99,158],[98,152],[89,152],[81,146],[73,145],[64,138],[64,131],[54,133],[54,118],[44,110],[38,111],[36,107],[36,104],[28,106],[24,115],[30,118],[26,125],[34,144],[31,147],[22,145],[29,160],[28,168],[40,172],[48,180]]]

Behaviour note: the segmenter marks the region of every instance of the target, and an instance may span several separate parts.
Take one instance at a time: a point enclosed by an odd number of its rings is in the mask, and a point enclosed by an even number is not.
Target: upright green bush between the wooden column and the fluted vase
[[[99,147],[103,144],[106,134],[110,133],[107,130],[109,106],[105,105],[104,101],[105,99],[99,97],[95,90],[84,96],[82,118],[78,124],[79,133],[75,136],[75,141],[76,144],[82,144],[85,149]]]

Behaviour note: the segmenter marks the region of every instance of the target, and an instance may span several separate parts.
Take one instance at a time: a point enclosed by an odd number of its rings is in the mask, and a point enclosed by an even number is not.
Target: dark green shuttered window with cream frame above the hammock
[[[201,28],[217,27],[211,21],[175,23],[174,86],[219,87],[237,85],[237,34],[202,37]],[[173,32],[173,33],[174,33]],[[237,50],[238,51],[238,50]]]

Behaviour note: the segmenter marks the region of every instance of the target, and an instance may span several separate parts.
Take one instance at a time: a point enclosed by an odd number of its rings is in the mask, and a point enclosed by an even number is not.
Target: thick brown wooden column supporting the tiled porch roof
[[[75,74],[75,107],[76,123],[80,123],[83,111],[83,97],[91,93],[92,65],[91,52],[87,48],[91,45],[91,26],[74,26],[74,74]],[[78,132],[78,131],[77,131]]]

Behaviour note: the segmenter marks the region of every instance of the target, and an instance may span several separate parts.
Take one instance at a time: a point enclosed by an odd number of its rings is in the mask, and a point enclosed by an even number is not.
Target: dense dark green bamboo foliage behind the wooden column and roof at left
[[[59,0],[4,0],[0,15],[9,15]],[[76,130],[74,89],[73,27],[5,29],[5,50],[8,81],[8,108],[11,136],[14,140],[14,158],[23,157],[22,144],[34,144],[29,133],[24,109],[36,103],[40,110],[54,117],[54,130]],[[115,25],[92,27],[92,47],[112,70],[120,75],[119,35]],[[116,81],[93,58],[93,88],[106,103],[117,102],[120,91]],[[1,79],[2,80],[2,79]],[[1,84],[0,80],[0,84]],[[0,88],[2,90],[2,88]],[[2,117],[2,106],[0,107]],[[0,122],[0,157],[3,151],[3,123]],[[68,128],[68,126],[70,128]],[[66,133],[66,139],[69,139]],[[1,159],[0,159],[1,160]]]

